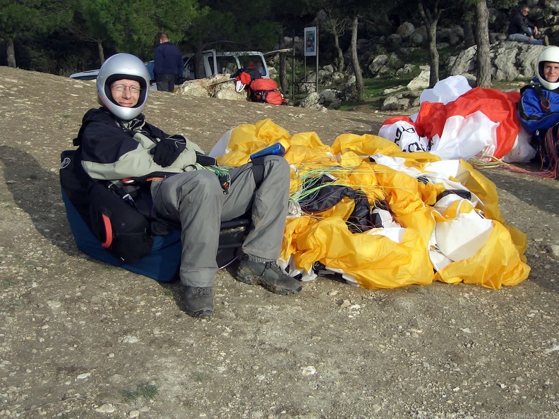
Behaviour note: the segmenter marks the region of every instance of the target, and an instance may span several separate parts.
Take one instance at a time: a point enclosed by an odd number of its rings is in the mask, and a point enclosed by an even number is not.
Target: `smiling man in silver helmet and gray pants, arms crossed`
[[[265,156],[231,169],[230,181],[222,184],[208,169],[216,164],[213,157],[183,136],[168,135],[145,121],[142,111],[149,87],[148,70],[136,56],[116,54],[103,63],[97,76],[102,106],[83,117],[77,161],[91,182],[110,181],[116,186],[127,178],[138,182],[147,188],[156,220],[181,229],[179,274],[186,287],[187,314],[213,314],[221,222],[247,213],[251,226],[236,279],[274,293],[299,292],[301,283],[275,262],[287,216],[287,161]]]

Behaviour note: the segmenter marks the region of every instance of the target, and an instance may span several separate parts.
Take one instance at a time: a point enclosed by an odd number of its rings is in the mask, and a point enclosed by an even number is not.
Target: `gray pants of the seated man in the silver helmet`
[[[260,188],[252,163],[232,169],[229,194],[224,195],[217,176],[195,170],[169,176],[154,191],[157,217],[181,225],[181,282],[186,286],[212,286],[217,272],[217,246],[221,221],[250,213],[242,251],[253,260],[277,260],[289,199],[289,164],[283,157],[264,160]]]

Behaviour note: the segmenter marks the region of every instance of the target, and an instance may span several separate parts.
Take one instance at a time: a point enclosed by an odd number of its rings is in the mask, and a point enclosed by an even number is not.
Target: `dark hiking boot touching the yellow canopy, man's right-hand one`
[[[236,279],[283,295],[298,293],[303,289],[301,282],[289,277],[276,262],[252,262],[246,257],[239,263]]]

